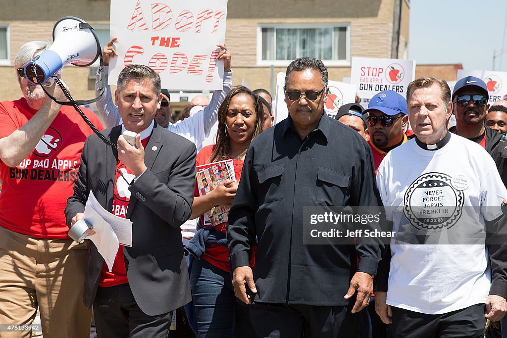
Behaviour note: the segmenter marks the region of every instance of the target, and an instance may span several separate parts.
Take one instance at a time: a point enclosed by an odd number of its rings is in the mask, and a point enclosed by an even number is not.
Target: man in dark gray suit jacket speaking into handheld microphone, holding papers
[[[191,299],[179,226],[191,214],[196,148],[154,121],[160,77],[142,65],[125,67],[116,102],[123,124],[86,139],[67,225],[83,217],[90,192],[106,210],[130,218],[132,246],[120,245],[112,271],[89,245],[83,300],[93,305],[98,337],[164,337],[171,311]],[[123,131],[135,132],[135,144]],[[91,232],[93,234],[93,232]]]

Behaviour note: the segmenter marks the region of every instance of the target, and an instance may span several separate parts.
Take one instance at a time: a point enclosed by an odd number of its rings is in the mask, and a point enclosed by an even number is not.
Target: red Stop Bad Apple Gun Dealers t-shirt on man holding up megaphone
[[[92,111],[82,110],[99,130],[103,128]],[[0,138],[25,125],[36,112],[25,98],[0,102]],[[92,133],[74,107],[62,106],[25,160],[15,168],[0,161],[1,227],[37,238],[69,238],[63,210],[73,194],[83,144]]]

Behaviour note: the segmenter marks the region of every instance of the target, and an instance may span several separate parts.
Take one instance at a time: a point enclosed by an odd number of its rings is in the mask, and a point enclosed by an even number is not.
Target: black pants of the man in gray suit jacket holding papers
[[[98,338],[167,338],[171,314],[149,316],[142,312],[128,284],[99,287],[93,302]]]

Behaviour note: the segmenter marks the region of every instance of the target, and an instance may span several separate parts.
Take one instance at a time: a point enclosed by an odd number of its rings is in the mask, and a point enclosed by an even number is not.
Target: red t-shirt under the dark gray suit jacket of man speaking
[[[143,147],[146,147],[149,139],[150,137],[146,137],[141,140]],[[132,170],[127,168],[120,160],[117,160],[115,189],[113,191],[113,209],[111,210],[113,215],[123,218],[127,217],[128,202],[130,201],[130,190],[128,190],[128,187],[129,182],[132,182],[134,177],[135,175],[132,173]],[[109,287],[126,283],[128,283],[127,269],[125,268],[125,258],[123,257],[123,245],[120,244],[111,272],[104,261],[98,286]]]

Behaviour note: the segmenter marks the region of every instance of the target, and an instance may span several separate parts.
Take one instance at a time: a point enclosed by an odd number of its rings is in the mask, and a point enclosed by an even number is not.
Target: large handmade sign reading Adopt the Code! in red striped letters
[[[226,14],[227,0],[111,0],[118,57],[110,61],[108,84],[139,63],[159,73],[162,88],[222,89],[224,63],[216,60],[216,45],[225,42]]]

